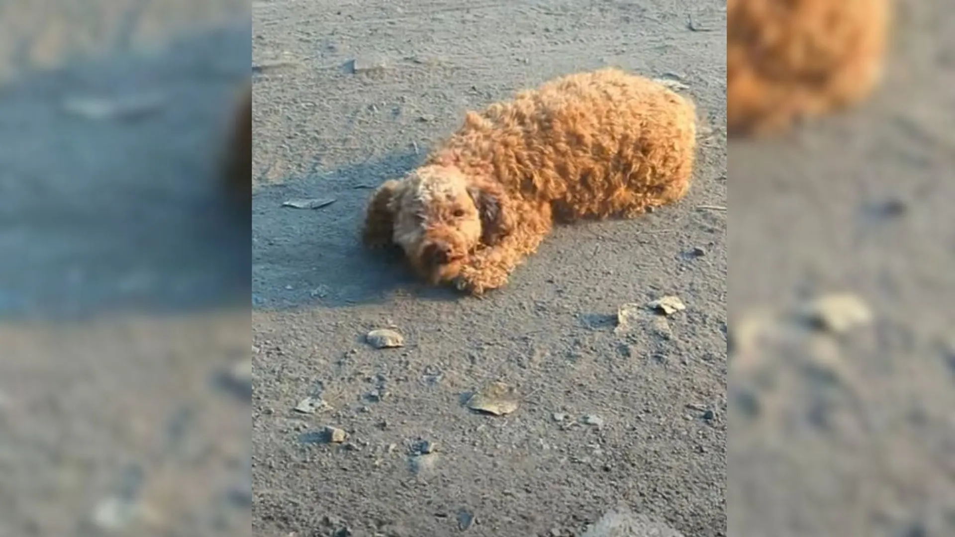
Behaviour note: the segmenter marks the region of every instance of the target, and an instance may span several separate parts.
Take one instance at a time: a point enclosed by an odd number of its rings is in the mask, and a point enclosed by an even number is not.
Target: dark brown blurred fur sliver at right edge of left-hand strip
[[[252,197],[252,85],[246,83],[233,109],[223,162],[223,183],[241,203]]]

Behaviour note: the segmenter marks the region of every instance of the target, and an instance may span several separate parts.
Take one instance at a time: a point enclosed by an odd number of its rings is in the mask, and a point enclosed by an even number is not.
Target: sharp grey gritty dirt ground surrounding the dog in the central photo
[[[699,207],[727,204],[725,2],[263,1],[253,33],[255,535],[569,536],[619,505],[726,535],[727,213]],[[689,86],[684,201],[560,228],[484,299],[362,250],[370,188],[466,110],[609,64]],[[614,332],[669,294],[671,333]],[[363,341],[392,325],[404,348]],[[495,380],[516,412],[465,408]]]

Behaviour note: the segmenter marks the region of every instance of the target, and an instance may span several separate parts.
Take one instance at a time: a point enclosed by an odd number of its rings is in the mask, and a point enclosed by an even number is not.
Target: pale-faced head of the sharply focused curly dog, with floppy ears
[[[497,184],[452,166],[424,166],[375,191],[364,240],[401,247],[414,269],[437,283],[454,278],[472,252],[497,244],[510,228]]]

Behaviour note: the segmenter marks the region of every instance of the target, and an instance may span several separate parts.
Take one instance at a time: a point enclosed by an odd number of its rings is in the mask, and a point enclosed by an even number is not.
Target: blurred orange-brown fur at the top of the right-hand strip
[[[867,97],[890,9],[890,0],[729,0],[730,133],[779,131]]]

